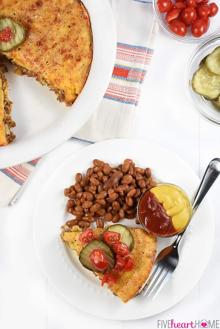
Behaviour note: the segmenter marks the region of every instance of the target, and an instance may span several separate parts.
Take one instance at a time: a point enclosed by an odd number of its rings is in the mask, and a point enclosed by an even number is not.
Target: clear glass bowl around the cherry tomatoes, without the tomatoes
[[[172,2],[174,2],[174,0]],[[210,38],[210,37],[215,36],[218,33],[220,33],[220,24],[219,24],[220,0],[216,0],[216,1],[209,0],[209,2],[210,3],[215,2],[216,5],[219,8],[219,11],[218,11],[217,15],[215,15],[214,17],[210,17],[210,19],[209,19],[210,20],[209,29],[200,38],[193,37],[193,35],[191,34],[191,26],[189,26],[187,28],[187,34],[185,35],[185,37],[179,37],[176,34],[174,34],[173,32],[171,32],[171,30],[168,28],[168,23],[165,20],[166,13],[160,13],[159,10],[158,10],[157,0],[153,0],[153,11],[154,11],[157,23],[171,37],[173,37],[177,40],[183,41],[183,42],[199,43],[199,42],[203,42],[203,41],[207,40],[207,38]]]

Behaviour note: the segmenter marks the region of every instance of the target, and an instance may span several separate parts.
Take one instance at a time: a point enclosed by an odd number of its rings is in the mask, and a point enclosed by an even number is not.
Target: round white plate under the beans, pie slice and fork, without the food
[[[209,260],[214,239],[214,220],[206,198],[181,241],[177,269],[153,301],[139,295],[124,304],[105,286],[101,287],[100,280],[81,266],[75,252],[59,237],[61,225],[73,218],[65,211],[68,199],[64,197],[63,189],[74,184],[77,172],[85,174],[93,159],[101,159],[114,167],[126,158],[132,158],[138,166],[149,166],[157,182],[176,184],[193,199],[200,180],[172,152],[141,140],[112,139],[76,152],[50,176],[38,201],[34,219],[35,248],[50,283],[64,298],[83,311],[115,320],[152,316],[178,303],[199,281]],[[135,220],[125,219],[121,223],[137,226]],[[158,239],[158,252],[172,241],[172,238]]]

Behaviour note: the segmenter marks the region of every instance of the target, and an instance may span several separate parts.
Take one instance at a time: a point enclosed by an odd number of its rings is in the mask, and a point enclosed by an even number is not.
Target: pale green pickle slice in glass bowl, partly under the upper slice
[[[216,100],[220,94],[220,76],[210,72],[204,63],[194,73],[192,87],[195,92],[209,100]]]

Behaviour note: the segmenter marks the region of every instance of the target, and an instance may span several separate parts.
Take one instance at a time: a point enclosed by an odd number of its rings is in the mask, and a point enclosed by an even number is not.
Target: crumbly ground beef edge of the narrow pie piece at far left
[[[2,80],[2,89],[4,93],[4,119],[3,123],[5,125],[5,136],[8,143],[11,143],[15,139],[15,135],[12,131],[10,131],[11,128],[16,126],[15,121],[11,118],[11,111],[12,111],[12,102],[8,99],[7,95],[7,81],[4,75],[1,75]]]

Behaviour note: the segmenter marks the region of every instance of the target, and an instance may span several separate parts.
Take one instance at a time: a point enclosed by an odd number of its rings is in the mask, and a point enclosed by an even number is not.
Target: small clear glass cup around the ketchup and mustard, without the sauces
[[[141,204],[141,200],[143,199],[144,195],[151,189],[153,189],[154,187],[156,186],[161,186],[161,185],[167,185],[167,186],[173,186],[175,187],[176,189],[178,189],[180,192],[182,192],[184,194],[184,196],[186,197],[186,200],[188,202],[188,206],[189,206],[189,218],[188,218],[188,221],[186,223],[186,225],[181,229],[179,230],[178,232],[175,232],[174,234],[171,234],[171,235],[159,235],[159,234],[155,234],[154,232],[151,232],[145,225],[144,223],[141,221],[141,218],[140,218],[140,215],[139,215],[139,211],[140,211],[140,204]],[[139,201],[138,201],[138,206],[137,206],[137,215],[138,215],[138,220],[142,226],[142,228],[149,234],[151,235],[154,235],[155,237],[158,237],[158,238],[170,238],[170,237],[174,237],[175,235],[181,233],[182,231],[185,230],[185,228],[188,226],[189,222],[190,222],[190,219],[191,219],[191,216],[192,216],[192,204],[191,204],[191,201],[190,201],[190,198],[189,196],[186,194],[186,192],[181,189],[179,186],[177,185],[174,185],[174,184],[171,184],[171,183],[158,183],[156,185],[153,185],[153,186],[150,186],[145,192],[142,193]]]

